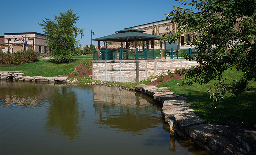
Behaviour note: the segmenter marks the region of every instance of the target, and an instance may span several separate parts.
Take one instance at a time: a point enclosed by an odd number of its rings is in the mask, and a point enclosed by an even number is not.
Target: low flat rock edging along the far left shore
[[[0,71],[1,80],[13,79],[16,81],[37,81],[37,82],[66,82],[68,77],[42,77],[42,76],[23,76],[21,71]]]

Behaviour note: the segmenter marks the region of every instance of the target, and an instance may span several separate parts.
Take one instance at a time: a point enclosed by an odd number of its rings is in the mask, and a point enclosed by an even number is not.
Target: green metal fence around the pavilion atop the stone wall
[[[93,51],[93,60],[182,59],[182,54],[196,55],[196,49],[119,49]]]

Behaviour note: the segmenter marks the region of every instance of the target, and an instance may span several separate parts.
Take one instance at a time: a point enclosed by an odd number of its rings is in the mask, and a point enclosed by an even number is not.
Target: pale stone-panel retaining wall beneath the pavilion
[[[93,61],[93,80],[140,82],[153,73],[197,65],[184,59]]]

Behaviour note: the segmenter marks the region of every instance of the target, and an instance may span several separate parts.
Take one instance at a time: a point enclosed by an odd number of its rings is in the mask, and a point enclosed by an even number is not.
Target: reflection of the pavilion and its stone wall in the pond
[[[159,111],[154,108],[157,102],[150,97],[144,98],[141,93],[95,85],[93,100],[95,113],[99,113],[97,124],[100,125],[139,132],[161,122]]]

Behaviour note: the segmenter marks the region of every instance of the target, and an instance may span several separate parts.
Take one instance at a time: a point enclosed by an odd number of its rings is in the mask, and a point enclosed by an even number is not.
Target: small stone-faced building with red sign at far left
[[[0,36],[0,51],[15,53],[16,51],[33,49],[38,53],[49,53],[46,35],[37,32],[4,33]]]

